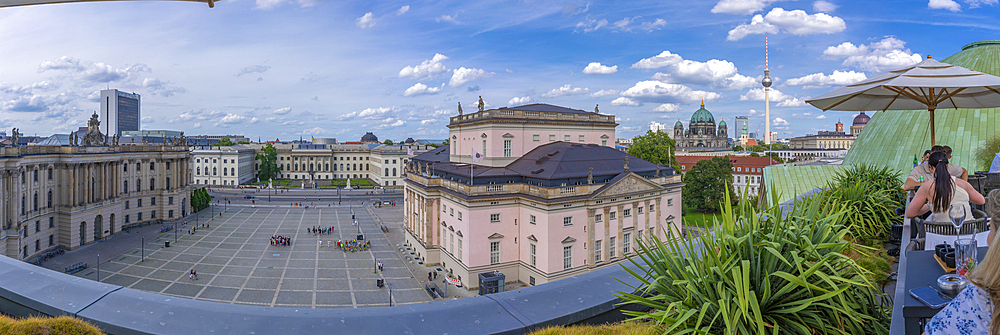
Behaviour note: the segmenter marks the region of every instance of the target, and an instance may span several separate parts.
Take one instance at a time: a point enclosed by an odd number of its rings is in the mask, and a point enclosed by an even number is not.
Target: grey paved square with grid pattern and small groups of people
[[[351,224],[351,213],[359,222]],[[392,303],[430,302],[396,247],[361,207],[325,209],[230,207],[209,228],[176,242],[170,233],[102,263],[103,282],[159,294],[271,307],[358,308],[389,305],[389,290],[375,285],[382,277],[392,287]],[[193,226],[193,225],[192,225]],[[315,236],[307,227],[334,226]],[[367,251],[344,252],[331,242],[351,240],[361,231],[371,241]],[[270,238],[292,238],[290,246],[272,246]],[[163,241],[171,246],[164,247]],[[143,259],[143,254],[145,259]],[[375,273],[375,259],[384,271]],[[198,280],[188,276],[198,271]],[[81,277],[96,279],[95,271]],[[93,277],[93,278],[91,278]]]

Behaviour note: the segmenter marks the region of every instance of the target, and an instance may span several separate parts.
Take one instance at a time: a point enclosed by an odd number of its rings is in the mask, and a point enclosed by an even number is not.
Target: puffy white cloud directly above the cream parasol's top
[[[844,42],[838,46],[827,47],[823,55],[828,58],[846,57],[844,66],[872,72],[895,70],[922,60],[920,54],[911,53],[910,49],[906,48],[906,42],[892,36],[883,37],[882,40],[868,45]]]

